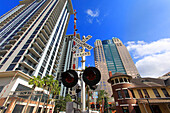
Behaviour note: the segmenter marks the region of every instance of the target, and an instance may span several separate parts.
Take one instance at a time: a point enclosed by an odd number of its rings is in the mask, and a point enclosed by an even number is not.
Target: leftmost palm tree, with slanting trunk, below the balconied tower
[[[29,85],[33,85],[32,86],[32,91],[31,91],[31,94],[30,96],[28,97],[28,101],[27,101],[27,105],[25,106],[25,109],[24,109],[24,113],[27,112],[27,109],[28,109],[28,105],[30,103],[30,100],[31,100],[31,97],[33,95],[33,92],[34,92],[34,89],[35,87],[42,87],[42,82],[41,82],[41,76],[33,76],[33,78],[31,78],[28,82]]]

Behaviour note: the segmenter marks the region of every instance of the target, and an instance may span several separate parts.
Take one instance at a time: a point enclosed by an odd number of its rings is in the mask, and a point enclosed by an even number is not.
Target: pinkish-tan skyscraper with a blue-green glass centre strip
[[[95,66],[101,71],[102,78],[109,78],[109,71],[112,74],[120,72],[133,78],[140,77],[127,48],[120,39],[114,37],[111,40],[96,40],[94,45]],[[101,79],[101,85],[103,86],[103,82],[106,83],[107,80]]]

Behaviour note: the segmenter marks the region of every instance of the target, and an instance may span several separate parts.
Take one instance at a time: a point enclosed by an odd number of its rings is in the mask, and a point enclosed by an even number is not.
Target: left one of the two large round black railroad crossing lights
[[[68,70],[61,74],[61,80],[65,87],[71,88],[74,87],[78,82],[77,72],[74,70]]]

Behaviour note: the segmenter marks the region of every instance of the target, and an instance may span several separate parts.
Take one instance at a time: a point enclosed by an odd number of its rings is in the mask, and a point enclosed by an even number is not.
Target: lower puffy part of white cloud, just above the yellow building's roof
[[[170,71],[170,52],[146,56],[136,62],[143,77],[159,77]]]

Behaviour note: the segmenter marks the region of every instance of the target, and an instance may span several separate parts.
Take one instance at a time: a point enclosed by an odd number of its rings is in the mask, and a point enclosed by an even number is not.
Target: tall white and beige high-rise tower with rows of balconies
[[[71,14],[71,0],[23,0],[0,17],[0,98],[31,76],[57,78]]]

